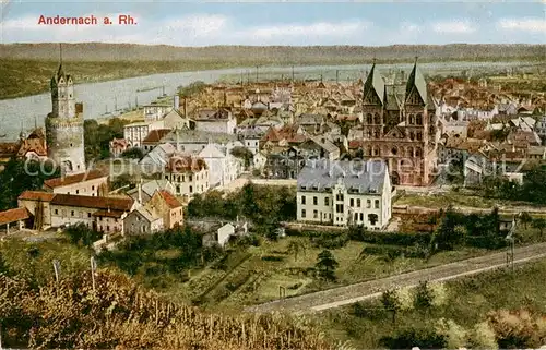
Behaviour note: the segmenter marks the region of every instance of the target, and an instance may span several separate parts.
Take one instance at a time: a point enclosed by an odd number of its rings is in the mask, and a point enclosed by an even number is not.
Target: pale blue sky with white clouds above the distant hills
[[[546,0],[523,1],[26,1],[0,0],[0,40],[174,46],[546,44]],[[104,25],[119,14],[134,25]],[[98,25],[43,25],[95,15]]]

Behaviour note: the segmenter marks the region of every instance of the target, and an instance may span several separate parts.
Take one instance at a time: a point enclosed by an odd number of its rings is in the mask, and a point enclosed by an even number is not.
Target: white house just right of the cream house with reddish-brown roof
[[[225,186],[242,172],[242,161],[234,157],[227,147],[209,144],[198,154],[198,157],[203,159],[209,168],[210,188]]]

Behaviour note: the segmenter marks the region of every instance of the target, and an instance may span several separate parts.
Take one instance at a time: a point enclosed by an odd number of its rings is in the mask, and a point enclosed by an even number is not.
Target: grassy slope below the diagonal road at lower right
[[[518,267],[515,274],[501,269],[447,282],[448,300],[443,306],[428,314],[411,310],[401,312],[396,323],[391,323],[379,301],[363,302],[369,309],[365,315],[354,313],[354,305],[324,312],[317,316],[328,338],[349,340],[357,349],[381,348],[380,339],[392,336],[403,327],[430,329],[437,319],[453,319],[471,328],[483,322],[488,312],[527,307],[533,312],[546,312],[546,260]]]

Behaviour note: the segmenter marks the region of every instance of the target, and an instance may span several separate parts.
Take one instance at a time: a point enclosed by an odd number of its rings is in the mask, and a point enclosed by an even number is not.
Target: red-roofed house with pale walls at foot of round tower
[[[99,170],[44,181],[44,190],[52,193],[99,196],[108,189],[108,176]]]

